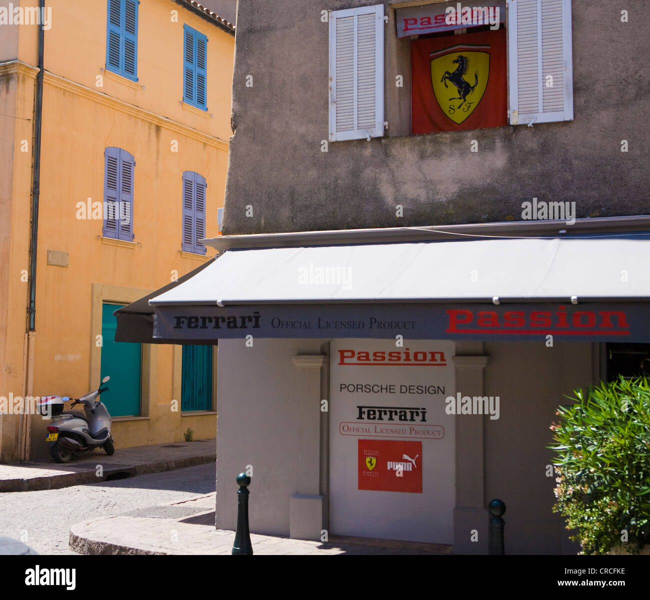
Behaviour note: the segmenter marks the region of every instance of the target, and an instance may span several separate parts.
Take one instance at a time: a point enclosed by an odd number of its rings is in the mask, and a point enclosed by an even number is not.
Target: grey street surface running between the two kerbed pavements
[[[70,526],[214,492],[214,463],[59,490],[0,494],[0,536],[39,554],[72,555]]]

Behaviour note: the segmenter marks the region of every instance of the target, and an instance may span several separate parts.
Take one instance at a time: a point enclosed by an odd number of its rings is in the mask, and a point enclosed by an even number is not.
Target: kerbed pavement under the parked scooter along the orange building
[[[115,473],[146,475],[216,460],[216,440],[176,442],[118,448],[107,456],[101,450],[73,458],[66,464],[53,460],[31,460],[0,464],[0,492],[50,490],[106,479]],[[98,476],[98,465],[102,466]]]

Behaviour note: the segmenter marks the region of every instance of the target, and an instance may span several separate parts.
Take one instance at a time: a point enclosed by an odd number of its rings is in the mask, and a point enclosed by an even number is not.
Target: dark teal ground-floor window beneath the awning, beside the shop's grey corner
[[[212,361],[210,345],[183,346],[181,412],[212,410]]]

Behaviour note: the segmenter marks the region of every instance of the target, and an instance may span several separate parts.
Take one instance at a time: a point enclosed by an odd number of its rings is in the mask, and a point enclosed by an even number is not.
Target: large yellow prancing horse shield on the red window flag
[[[442,111],[460,125],[481,101],[489,78],[489,45],[460,45],[432,52],[431,82]]]

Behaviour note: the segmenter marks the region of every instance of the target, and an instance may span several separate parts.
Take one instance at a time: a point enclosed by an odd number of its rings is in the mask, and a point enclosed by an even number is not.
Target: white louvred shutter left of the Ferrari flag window
[[[383,136],[383,11],[330,12],[330,142]]]

